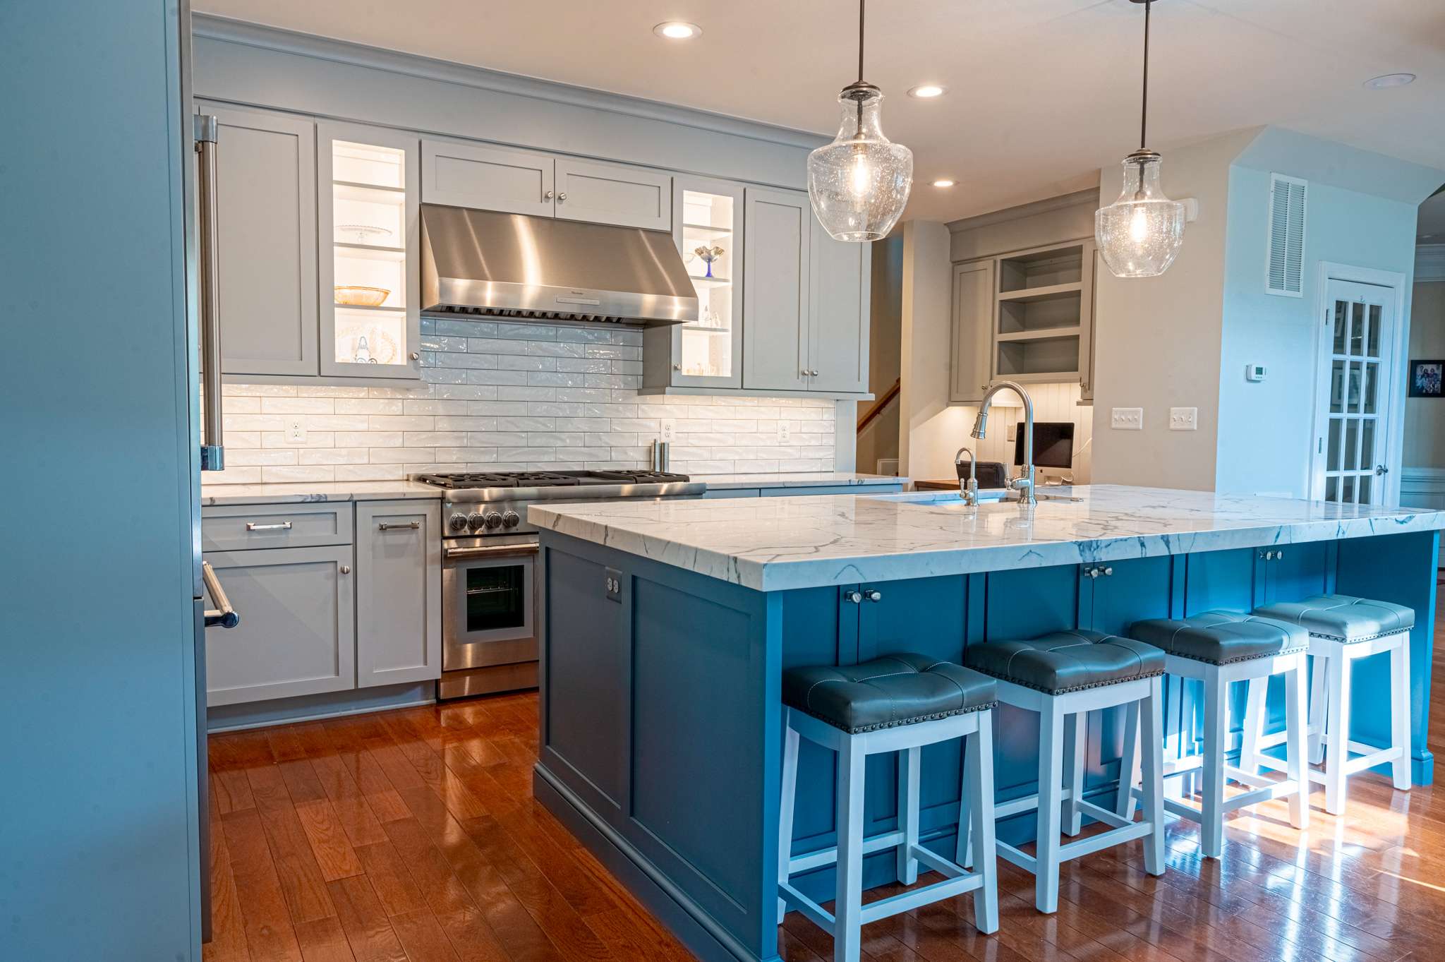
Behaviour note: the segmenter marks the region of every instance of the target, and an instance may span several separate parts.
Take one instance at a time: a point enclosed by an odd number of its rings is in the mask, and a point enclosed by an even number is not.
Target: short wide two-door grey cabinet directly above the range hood
[[[490,144],[423,140],[422,201],[672,230],[668,173]]]

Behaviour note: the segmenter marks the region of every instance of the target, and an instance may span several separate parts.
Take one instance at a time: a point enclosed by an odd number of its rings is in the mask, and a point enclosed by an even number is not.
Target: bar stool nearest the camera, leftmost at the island
[[[998,929],[998,884],[993,852],[993,706],[994,683],[978,672],[923,654],[892,654],[845,667],[818,666],[783,672],[786,741],[783,797],[777,825],[777,917],[796,907],[832,933],[835,962],[857,962],[860,929],[919,906],[974,893],[974,924]],[[793,800],[798,789],[798,738],[838,753],[838,845],[792,857]],[[935,855],[918,844],[919,763],[923,745],[967,738],[964,797],[974,799],[980,836],[978,870]],[[868,755],[899,753],[899,826],[863,838],[863,777]],[[944,881],[863,904],[863,857],[897,849],[897,880],[918,881],[918,864]],[[798,872],[838,865],[837,900],[829,914],[792,884]]]

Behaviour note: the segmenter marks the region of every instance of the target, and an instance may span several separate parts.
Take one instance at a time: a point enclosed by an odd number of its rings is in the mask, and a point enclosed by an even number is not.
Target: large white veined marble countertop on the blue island
[[[543,529],[782,591],[1445,529],[1445,513],[1123,485],[532,506]]]

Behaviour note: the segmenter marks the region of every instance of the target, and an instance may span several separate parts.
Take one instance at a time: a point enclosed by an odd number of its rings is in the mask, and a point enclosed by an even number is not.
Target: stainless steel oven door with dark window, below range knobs
[[[538,656],[535,540],[461,539],[442,546],[442,670]]]

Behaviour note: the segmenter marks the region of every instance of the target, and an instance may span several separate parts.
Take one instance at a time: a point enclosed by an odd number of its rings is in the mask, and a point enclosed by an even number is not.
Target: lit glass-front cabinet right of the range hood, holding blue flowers
[[[741,186],[675,178],[672,234],[698,292],[698,319],[670,328],[669,381],[676,387],[741,387]]]

